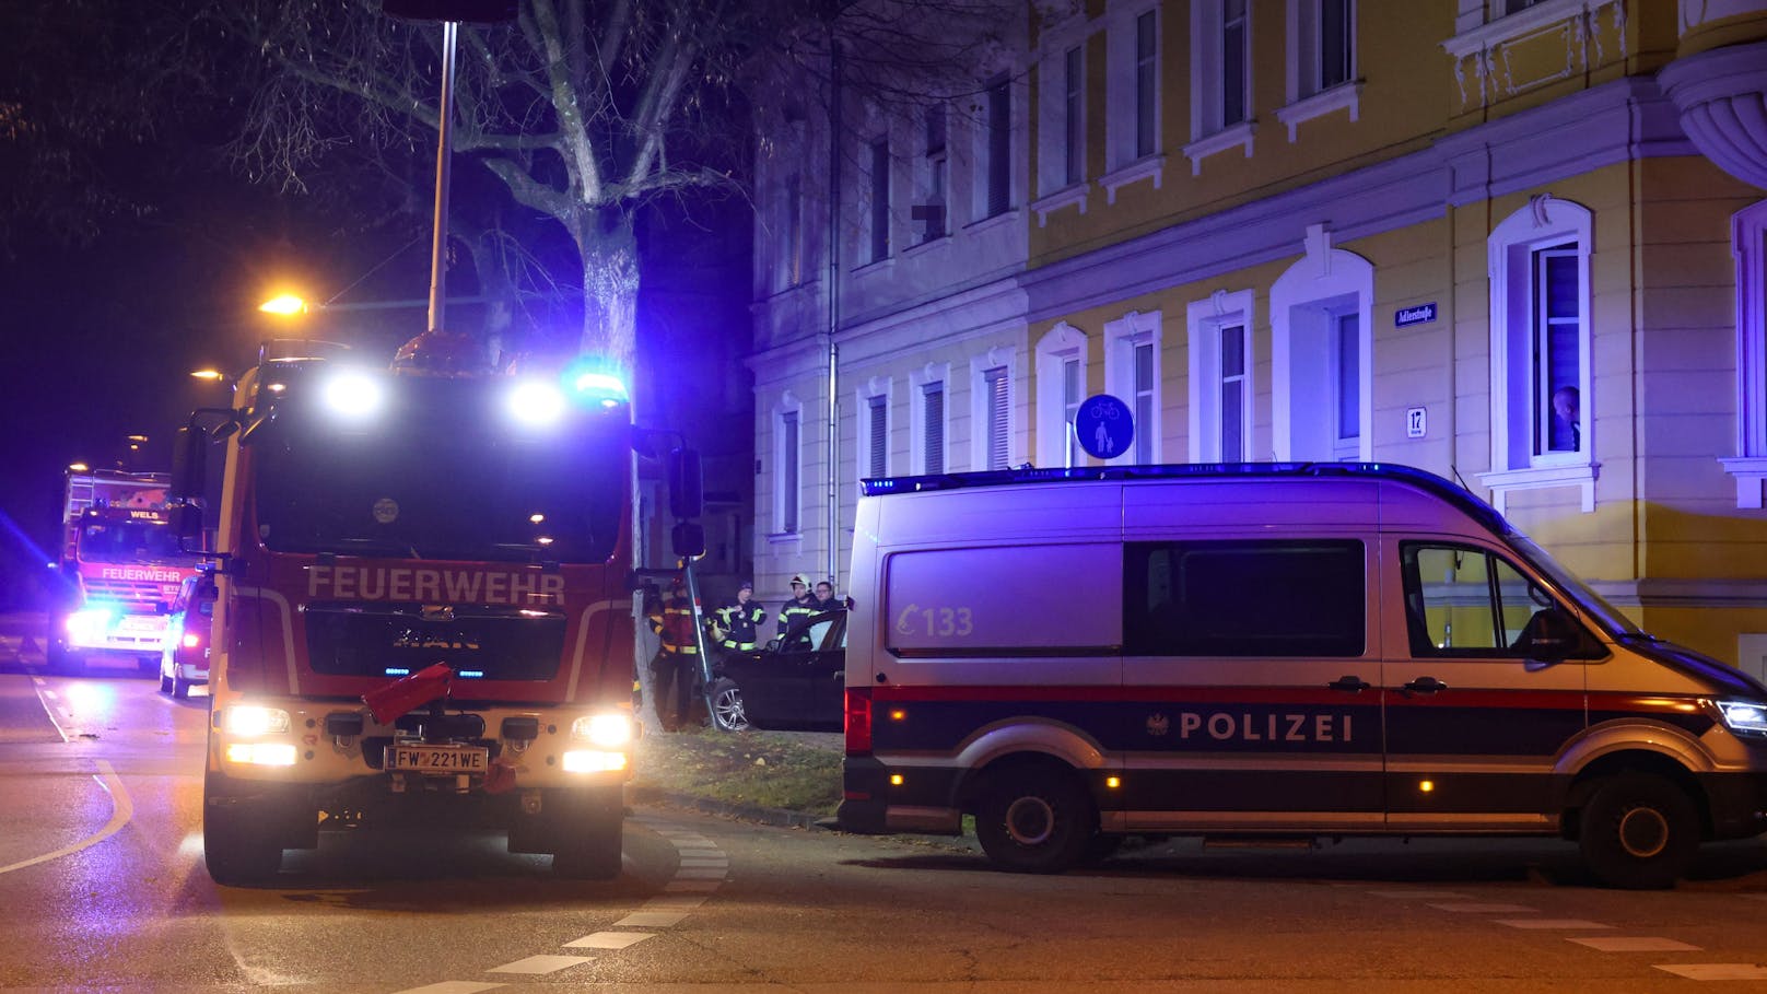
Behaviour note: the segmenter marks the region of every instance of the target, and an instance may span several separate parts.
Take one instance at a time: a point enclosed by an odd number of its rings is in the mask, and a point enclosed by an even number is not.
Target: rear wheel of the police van
[[[1044,766],[991,775],[975,807],[975,837],[1002,868],[1058,874],[1085,856],[1097,810],[1085,787]]]

